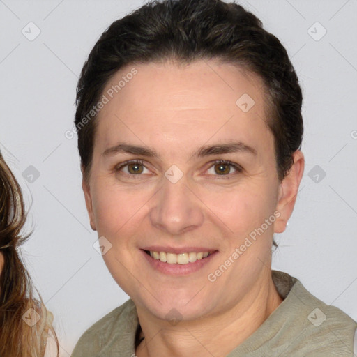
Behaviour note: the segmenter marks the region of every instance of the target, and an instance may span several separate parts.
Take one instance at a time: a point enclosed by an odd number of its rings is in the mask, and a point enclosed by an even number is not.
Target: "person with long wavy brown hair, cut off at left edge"
[[[52,356],[59,356],[52,314],[40,296],[34,297],[20,257],[19,248],[29,237],[22,236],[25,221],[20,185],[0,153],[0,356],[49,356],[47,339],[56,345]]]

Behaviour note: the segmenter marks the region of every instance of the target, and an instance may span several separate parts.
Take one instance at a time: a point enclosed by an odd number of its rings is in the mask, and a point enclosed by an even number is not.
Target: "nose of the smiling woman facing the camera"
[[[163,179],[150,211],[151,224],[170,235],[197,229],[204,222],[202,202],[184,177],[176,183]]]

